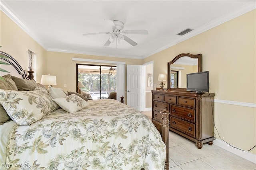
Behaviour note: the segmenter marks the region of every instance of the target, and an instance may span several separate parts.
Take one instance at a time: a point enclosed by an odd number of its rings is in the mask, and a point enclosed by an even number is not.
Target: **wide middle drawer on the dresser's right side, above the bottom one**
[[[181,117],[188,121],[192,121],[193,123],[196,122],[196,119],[195,119],[196,113],[194,109],[188,109],[186,107],[170,105],[170,114]]]

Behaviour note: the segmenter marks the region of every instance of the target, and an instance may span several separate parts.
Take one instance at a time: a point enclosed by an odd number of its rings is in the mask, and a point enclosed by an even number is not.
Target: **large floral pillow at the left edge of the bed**
[[[0,103],[18,125],[30,125],[59,108],[46,89],[34,91],[0,89]]]

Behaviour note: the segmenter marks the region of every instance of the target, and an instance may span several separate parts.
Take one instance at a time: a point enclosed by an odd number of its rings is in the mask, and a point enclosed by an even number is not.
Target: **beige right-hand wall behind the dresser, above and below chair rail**
[[[143,60],[154,61],[154,75],[167,74],[167,62],[180,53],[202,53],[202,69],[209,71],[210,92],[216,100],[256,103],[256,10]],[[154,84],[157,84],[154,77]],[[166,83],[166,82],[165,82]],[[256,108],[214,103],[220,137],[243,150],[256,143]],[[218,137],[217,131],[214,131]],[[256,149],[250,152],[256,154]]]

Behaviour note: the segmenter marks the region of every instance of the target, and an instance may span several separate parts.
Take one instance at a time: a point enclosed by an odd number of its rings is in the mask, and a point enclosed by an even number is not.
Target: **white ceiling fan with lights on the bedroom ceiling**
[[[144,34],[144,35],[148,34],[148,31],[146,29],[122,31],[122,29],[124,28],[124,23],[122,21],[118,21],[118,20],[113,20],[113,21],[105,20],[105,21],[107,21],[108,24],[110,25],[112,32],[85,33],[83,35],[87,36],[87,35],[96,35],[96,34],[110,34],[110,37],[109,37],[108,41],[106,41],[104,46],[110,45],[110,43],[113,43],[115,41],[115,39],[116,39],[116,43],[117,43],[117,41],[120,42],[120,41],[124,40],[127,43],[129,43],[130,45],[136,46],[136,45],[138,45],[138,43],[136,43],[132,39],[128,38],[124,34]]]

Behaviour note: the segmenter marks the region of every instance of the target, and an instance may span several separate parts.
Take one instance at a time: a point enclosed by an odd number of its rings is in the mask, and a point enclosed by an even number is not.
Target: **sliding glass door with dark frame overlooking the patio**
[[[76,70],[77,90],[90,94],[93,100],[115,94],[116,66],[76,64]]]

